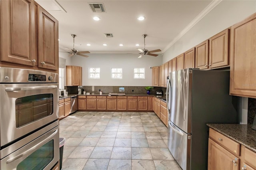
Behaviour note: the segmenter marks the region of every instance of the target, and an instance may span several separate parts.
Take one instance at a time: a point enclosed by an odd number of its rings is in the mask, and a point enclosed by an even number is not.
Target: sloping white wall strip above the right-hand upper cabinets
[[[222,0],[194,27],[186,32],[182,38],[164,52],[162,63],[184,53],[255,12],[256,0]]]

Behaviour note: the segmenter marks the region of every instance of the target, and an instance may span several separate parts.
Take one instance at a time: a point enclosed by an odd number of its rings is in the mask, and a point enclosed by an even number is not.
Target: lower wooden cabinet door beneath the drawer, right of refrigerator
[[[239,158],[209,138],[208,170],[239,170],[239,163]]]

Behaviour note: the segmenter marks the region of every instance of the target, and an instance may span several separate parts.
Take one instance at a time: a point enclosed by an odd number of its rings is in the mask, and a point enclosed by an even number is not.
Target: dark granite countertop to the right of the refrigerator
[[[256,152],[256,130],[252,129],[252,125],[207,124],[207,126]]]

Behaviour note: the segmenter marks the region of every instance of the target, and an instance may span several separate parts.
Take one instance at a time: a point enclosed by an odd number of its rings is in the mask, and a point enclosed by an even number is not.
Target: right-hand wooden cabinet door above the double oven
[[[58,70],[58,20],[38,6],[38,67]]]

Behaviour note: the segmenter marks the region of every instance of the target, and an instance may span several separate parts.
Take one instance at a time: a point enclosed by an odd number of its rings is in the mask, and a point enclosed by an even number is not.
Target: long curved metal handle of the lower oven
[[[47,138],[45,138],[44,140],[42,140],[41,142],[39,142],[38,144],[36,144],[36,145],[33,146],[32,148],[26,150],[26,151],[23,152],[22,154],[19,154],[19,155],[15,156],[15,157],[13,157],[13,158],[11,158],[11,159],[8,159],[8,160],[6,161],[6,164],[9,164],[9,163],[11,163],[11,162],[13,162],[13,161],[15,161],[15,160],[17,160],[17,159],[19,159],[19,158],[21,158],[21,157],[27,155],[27,154],[33,153],[33,152],[36,151],[38,148],[40,148],[42,144],[44,144],[44,143],[47,142],[50,138],[52,138],[57,132],[58,132],[58,129],[54,130],[54,132],[53,132],[50,136],[48,136]]]

